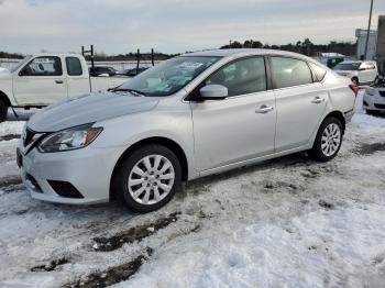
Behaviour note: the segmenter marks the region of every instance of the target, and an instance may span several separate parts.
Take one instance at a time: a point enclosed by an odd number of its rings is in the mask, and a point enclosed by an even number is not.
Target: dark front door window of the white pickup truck
[[[56,56],[36,57],[21,71],[21,76],[62,76],[62,60]]]

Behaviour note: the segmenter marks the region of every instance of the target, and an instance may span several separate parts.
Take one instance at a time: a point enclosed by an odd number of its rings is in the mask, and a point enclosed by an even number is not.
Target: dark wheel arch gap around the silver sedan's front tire
[[[128,147],[123,154],[119,157],[117,164],[113,167],[111,179],[110,179],[110,200],[113,199],[113,193],[112,193],[112,180],[113,176],[117,171],[117,168],[121,165],[121,163],[124,160],[124,158],[132,153],[134,149],[139,148],[140,146],[147,145],[147,144],[158,144],[162,146],[165,146],[169,148],[172,152],[175,153],[176,157],[178,158],[180,163],[180,168],[182,168],[182,180],[186,181],[188,179],[188,160],[186,153],[182,148],[182,146],[176,143],[175,141],[168,139],[168,137],[161,137],[161,136],[155,136],[155,137],[147,137],[143,139],[141,141],[138,141],[136,143],[132,144],[130,147]]]

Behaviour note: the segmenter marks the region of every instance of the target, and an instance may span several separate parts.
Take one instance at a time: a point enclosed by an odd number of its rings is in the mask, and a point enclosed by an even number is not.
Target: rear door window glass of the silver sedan
[[[311,71],[306,62],[272,57],[272,76],[275,88],[285,88],[312,82]]]

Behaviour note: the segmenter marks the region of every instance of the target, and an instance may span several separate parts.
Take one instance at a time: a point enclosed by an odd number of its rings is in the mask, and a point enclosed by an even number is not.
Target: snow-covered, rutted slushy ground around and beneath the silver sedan
[[[145,215],[32,200],[14,163],[23,122],[1,123],[0,286],[384,287],[385,117],[361,101],[332,162],[207,177]]]

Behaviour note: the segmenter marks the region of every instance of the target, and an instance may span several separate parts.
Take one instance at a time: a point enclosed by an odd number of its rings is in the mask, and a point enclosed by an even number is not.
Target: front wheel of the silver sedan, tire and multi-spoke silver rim
[[[157,144],[139,147],[127,155],[112,177],[113,195],[138,213],[160,209],[180,189],[178,158],[169,148]]]

